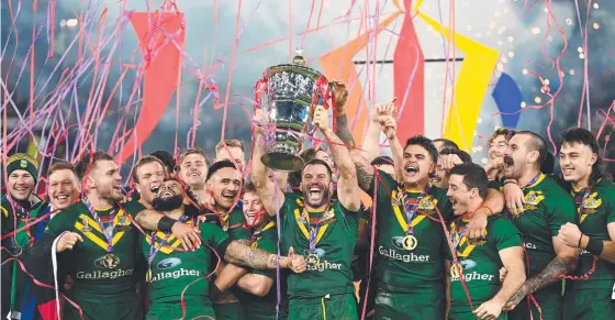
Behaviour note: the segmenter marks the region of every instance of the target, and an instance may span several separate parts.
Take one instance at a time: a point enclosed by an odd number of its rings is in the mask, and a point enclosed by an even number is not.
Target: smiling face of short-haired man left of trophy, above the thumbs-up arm
[[[209,179],[208,189],[212,191],[215,205],[228,210],[242,191],[242,175],[235,168],[221,168]]]

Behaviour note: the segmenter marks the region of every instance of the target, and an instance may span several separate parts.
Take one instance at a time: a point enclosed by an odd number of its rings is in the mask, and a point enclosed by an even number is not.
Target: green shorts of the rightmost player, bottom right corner
[[[615,301],[611,288],[567,290],[563,295],[564,320],[612,320]]]

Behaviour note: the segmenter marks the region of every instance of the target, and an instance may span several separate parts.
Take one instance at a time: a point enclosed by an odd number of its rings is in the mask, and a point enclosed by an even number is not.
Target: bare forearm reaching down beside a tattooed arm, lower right
[[[507,271],[502,288],[491,300],[482,304],[474,315],[480,319],[496,319],[504,305],[515,295],[525,283],[525,265],[523,263],[523,247],[511,246],[499,252],[500,260]],[[491,317],[491,318],[490,318]]]

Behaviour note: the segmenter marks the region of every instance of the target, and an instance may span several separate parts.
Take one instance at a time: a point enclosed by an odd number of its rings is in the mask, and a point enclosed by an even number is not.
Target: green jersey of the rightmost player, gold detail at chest
[[[615,184],[601,179],[593,188],[585,191],[572,191],[577,202],[579,229],[591,239],[611,241],[607,224],[615,222]],[[584,201],[583,201],[583,198]],[[581,211],[582,209],[582,211]],[[586,274],[593,264],[593,255],[583,250],[579,265],[573,275]],[[611,288],[615,283],[615,264],[599,260],[595,272],[588,280],[572,282],[573,288]],[[567,283],[568,289],[568,283]]]

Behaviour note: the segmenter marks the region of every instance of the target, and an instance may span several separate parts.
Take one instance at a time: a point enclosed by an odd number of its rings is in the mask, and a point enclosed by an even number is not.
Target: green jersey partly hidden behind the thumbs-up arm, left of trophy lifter
[[[278,253],[278,229],[276,228],[275,221],[269,221],[260,231],[255,231],[250,241],[251,247],[257,247],[265,250],[270,253]],[[269,293],[264,297],[254,296],[245,291],[238,293],[237,298],[242,301],[245,308],[246,317],[256,319],[257,315],[268,313],[269,316],[276,316],[276,306],[278,305],[278,290],[277,290],[277,271],[276,269],[253,269],[251,274],[262,275],[269,277],[273,280],[273,285]],[[287,308],[287,271],[280,269],[280,289],[281,289],[281,301],[280,301],[280,315],[286,315]]]

